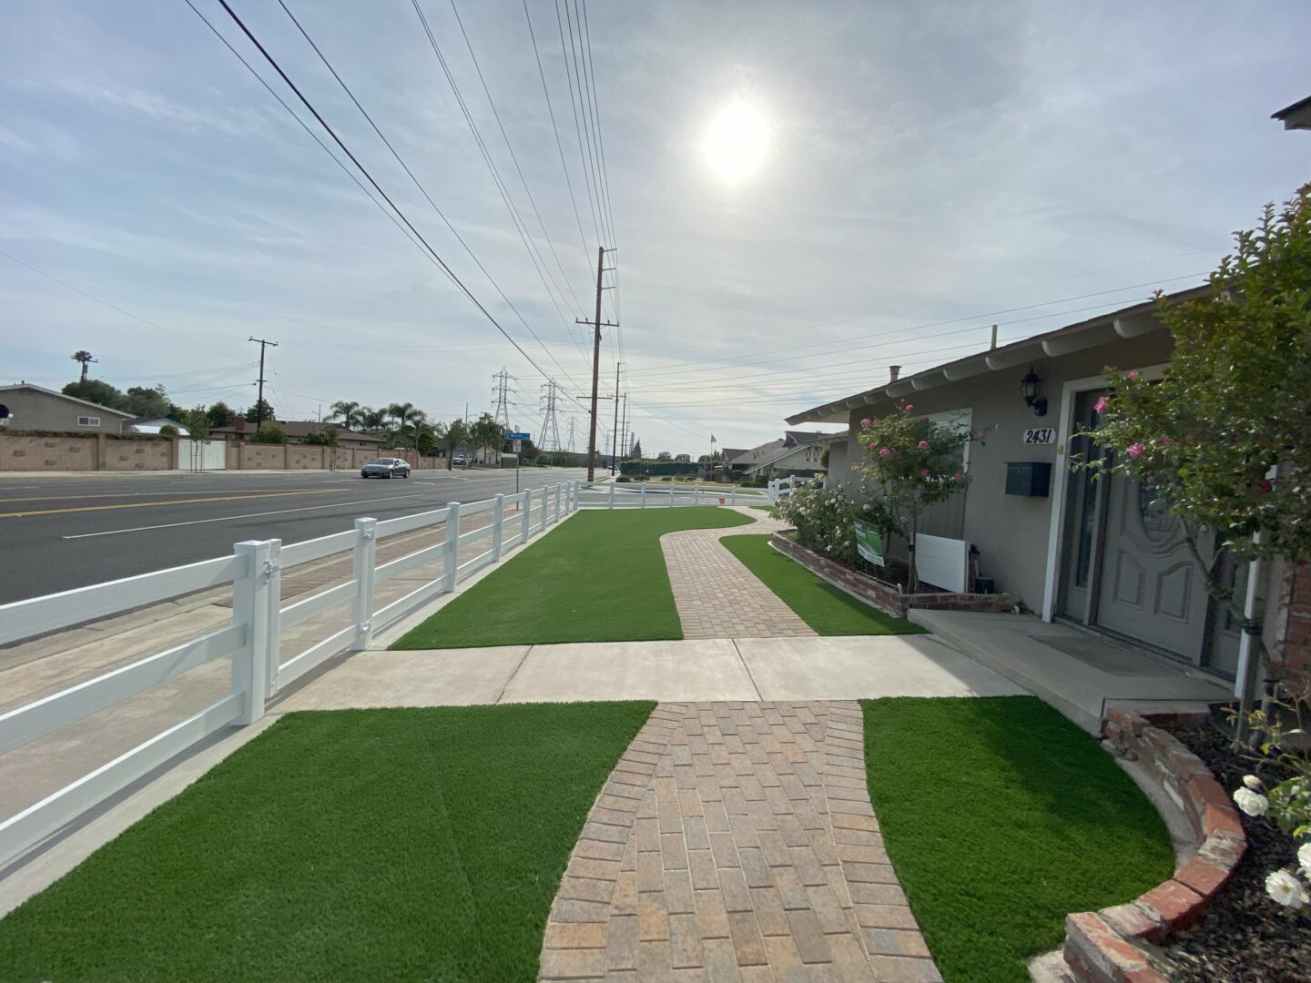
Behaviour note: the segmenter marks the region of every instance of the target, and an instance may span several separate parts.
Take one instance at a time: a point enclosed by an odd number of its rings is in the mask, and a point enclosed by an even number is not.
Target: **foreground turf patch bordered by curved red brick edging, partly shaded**
[[[1032,696],[861,700],[888,853],[947,983],[1028,983],[1065,916],[1173,873],[1160,815]]]

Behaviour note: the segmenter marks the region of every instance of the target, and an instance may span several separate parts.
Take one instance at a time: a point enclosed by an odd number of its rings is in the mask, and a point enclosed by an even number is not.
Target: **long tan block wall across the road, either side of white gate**
[[[317,444],[228,442],[229,471],[357,471],[375,457],[402,457],[414,471],[444,469],[447,457]],[[178,439],[114,434],[52,436],[0,433],[0,471],[177,471]]]

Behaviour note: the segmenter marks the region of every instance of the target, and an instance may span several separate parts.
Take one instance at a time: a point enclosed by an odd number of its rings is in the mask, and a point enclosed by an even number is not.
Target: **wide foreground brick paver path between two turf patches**
[[[661,704],[587,817],[540,979],[941,980],[869,805],[859,705]]]

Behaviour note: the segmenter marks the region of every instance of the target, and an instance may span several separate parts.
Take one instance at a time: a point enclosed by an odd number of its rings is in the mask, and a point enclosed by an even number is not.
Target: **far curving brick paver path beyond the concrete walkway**
[[[684,530],[659,537],[684,638],[772,638],[814,634],[814,629],[760,583],[720,540],[788,528],[764,512],[741,509],[754,526]]]

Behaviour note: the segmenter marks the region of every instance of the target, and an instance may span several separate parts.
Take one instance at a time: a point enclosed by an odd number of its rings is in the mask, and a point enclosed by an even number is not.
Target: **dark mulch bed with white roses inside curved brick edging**
[[[1238,756],[1213,725],[1168,730],[1211,769],[1230,792],[1255,764]],[[1264,776],[1262,777],[1268,777]],[[1266,876],[1293,861],[1287,834],[1264,818],[1239,813],[1247,853],[1202,920],[1171,940],[1165,953],[1181,983],[1311,982],[1311,914],[1290,911],[1265,893]]]

